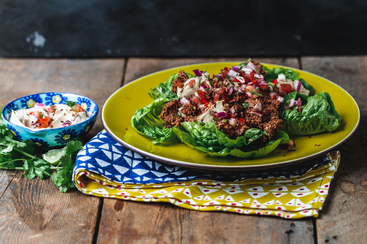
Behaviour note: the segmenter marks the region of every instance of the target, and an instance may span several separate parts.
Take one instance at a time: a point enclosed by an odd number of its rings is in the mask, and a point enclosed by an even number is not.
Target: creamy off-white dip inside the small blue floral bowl
[[[49,108],[51,108],[51,106],[39,106],[37,108],[32,107],[28,109],[11,110],[9,122],[21,127],[26,127],[31,131],[40,131],[43,129],[63,128],[70,125],[79,124],[86,121],[91,116],[91,112],[88,111],[79,112],[77,115],[75,115],[76,112],[71,111],[71,108],[66,104],[55,104],[54,114],[48,110]],[[50,123],[48,124],[48,127],[31,128],[32,122],[35,122],[31,121],[34,117],[32,118],[29,113],[36,111],[42,112],[44,116],[50,117]],[[73,113],[75,116],[72,115]],[[68,123],[67,121],[71,123]],[[63,125],[65,122],[68,123],[66,126]]]

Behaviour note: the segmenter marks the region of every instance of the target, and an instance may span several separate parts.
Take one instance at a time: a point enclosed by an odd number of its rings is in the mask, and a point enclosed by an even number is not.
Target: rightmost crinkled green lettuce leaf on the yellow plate
[[[335,131],[341,119],[331,101],[330,94],[326,92],[309,97],[307,104],[302,106],[301,113],[292,108],[283,109],[279,117],[283,120],[281,130],[290,136]]]

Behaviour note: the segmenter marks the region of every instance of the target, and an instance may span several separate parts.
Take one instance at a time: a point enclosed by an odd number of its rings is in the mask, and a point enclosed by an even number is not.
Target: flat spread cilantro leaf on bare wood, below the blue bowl
[[[24,176],[27,179],[33,179],[38,176],[43,179],[43,175],[50,176],[50,165],[49,163],[41,158],[34,158],[25,160],[23,164]]]

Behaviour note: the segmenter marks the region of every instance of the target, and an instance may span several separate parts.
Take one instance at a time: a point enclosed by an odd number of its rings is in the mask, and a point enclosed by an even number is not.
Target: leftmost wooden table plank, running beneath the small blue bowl
[[[124,59],[0,59],[1,97],[70,92],[103,103],[121,86]],[[102,130],[98,119],[86,140]],[[102,200],[76,189],[59,193],[50,179],[0,172],[0,243],[92,243]],[[10,184],[6,187],[6,184]],[[4,186],[3,186],[4,185]]]

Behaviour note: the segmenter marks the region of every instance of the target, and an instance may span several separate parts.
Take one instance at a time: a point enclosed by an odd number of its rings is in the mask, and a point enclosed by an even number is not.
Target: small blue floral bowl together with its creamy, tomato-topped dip
[[[98,105],[82,95],[39,93],[10,102],[1,118],[19,140],[52,149],[88,134],[97,114]]]

